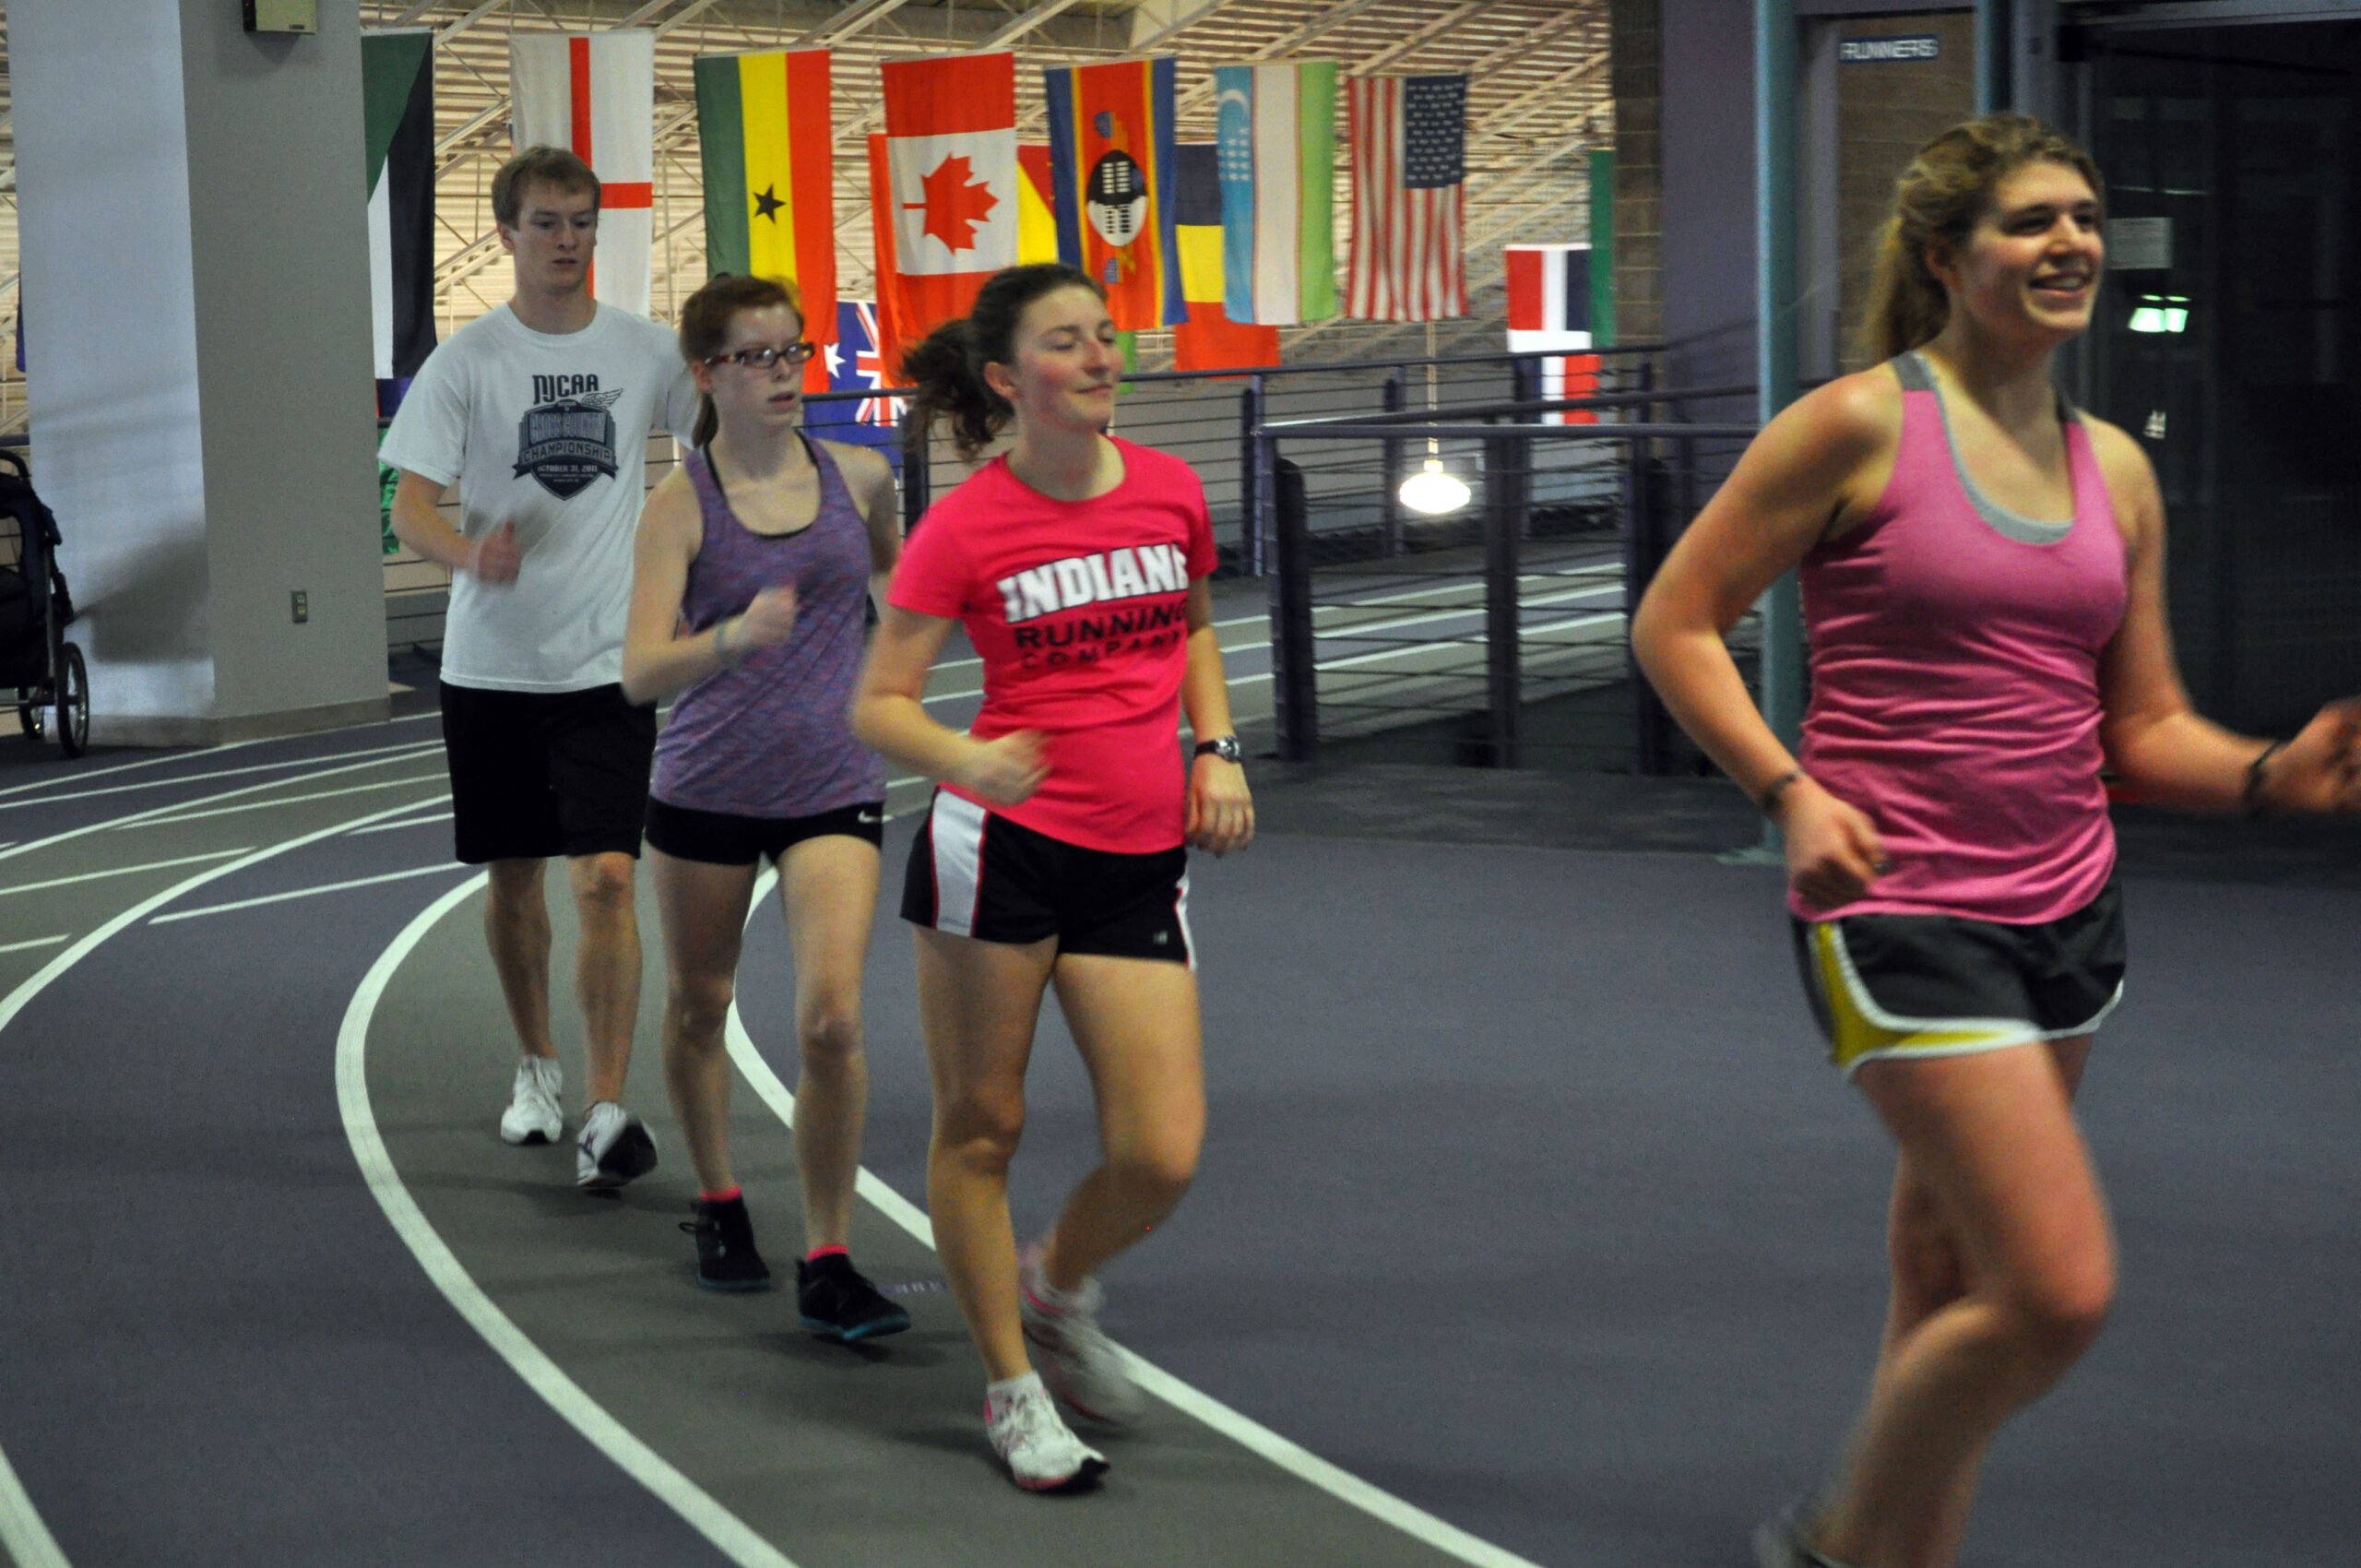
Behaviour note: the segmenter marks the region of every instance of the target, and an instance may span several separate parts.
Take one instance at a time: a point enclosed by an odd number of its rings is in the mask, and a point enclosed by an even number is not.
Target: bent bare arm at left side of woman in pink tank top
[[[1778,789],[1771,815],[1787,831],[1790,881],[1818,907],[1860,897],[1884,848],[1860,810],[1797,777],[1724,635],[1832,527],[1875,505],[1898,432],[1901,394],[1882,371],[1792,404],[1688,524],[1631,621],[1631,652],[1681,727],[1750,798]]]

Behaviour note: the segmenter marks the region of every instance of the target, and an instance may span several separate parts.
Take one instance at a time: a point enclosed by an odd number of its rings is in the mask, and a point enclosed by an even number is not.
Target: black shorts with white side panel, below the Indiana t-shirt
[[[1062,954],[1197,966],[1185,848],[1086,850],[940,789],[909,848],[902,919],[980,942],[1058,937]]]

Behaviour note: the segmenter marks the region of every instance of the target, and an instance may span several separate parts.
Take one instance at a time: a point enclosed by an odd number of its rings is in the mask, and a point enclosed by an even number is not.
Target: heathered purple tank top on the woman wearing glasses
[[[704,543],[680,614],[692,631],[725,621],[772,586],[796,590],[796,631],[779,647],[692,685],[656,739],[652,793],[732,817],[817,817],[885,798],[885,763],[852,739],[852,685],[869,614],[869,529],[836,460],[815,442],[819,515],[793,534],[756,534],[701,451],[680,453],[696,486]]]

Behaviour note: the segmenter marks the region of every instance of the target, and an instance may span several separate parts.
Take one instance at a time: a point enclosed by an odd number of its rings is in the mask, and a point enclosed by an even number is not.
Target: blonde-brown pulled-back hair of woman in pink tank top
[[[1894,182],[1894,210],[1877,229],[1877,269],[1860,316],[1860,347],[1872,361],[1908,354],[1943,331],[1950,295],[1927,269],[1927,253],[1960,250],[2000,182],[2028,163],[2064,163],[2106,203],[2092,156],[2026,113],[1953,125],[1910,158]]]

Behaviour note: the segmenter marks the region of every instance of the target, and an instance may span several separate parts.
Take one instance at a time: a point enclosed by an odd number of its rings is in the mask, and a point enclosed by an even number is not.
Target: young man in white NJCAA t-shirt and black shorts
[[[590,1046],[576,1183],[604,1190],[656,1164],[621,1105],[656,746],[654,708],[623,699],[623,616],[647,437],[687,437],[696,387],[671,328],[590,298],[597,198],[590,165],[555,146],[493,175],[517,293],[427,357],[382,456],[401,470],[394,536],[451,569],[442,713],[456,852],[491,867],[484,935],[524,1051],[501,1138],[564,1133],[543,902],[543,869],[564,855]],[[453,482],[458,529],[434,510]]]

